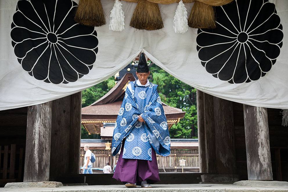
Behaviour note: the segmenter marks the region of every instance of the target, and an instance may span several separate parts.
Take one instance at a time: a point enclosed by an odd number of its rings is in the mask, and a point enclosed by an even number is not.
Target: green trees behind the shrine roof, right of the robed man
[[[150,65],[149,80],[158,85],[163,103],[186,112],[177,125],[170,128],[171,138],[197,138],[196,89],[181,82],[155,64]]]

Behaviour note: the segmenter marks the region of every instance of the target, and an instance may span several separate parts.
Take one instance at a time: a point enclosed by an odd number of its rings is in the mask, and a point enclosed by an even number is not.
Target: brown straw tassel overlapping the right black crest
[[[188,18],[188,25],[192,28],[215,29],[214,8],[200,1],[195,1]]]

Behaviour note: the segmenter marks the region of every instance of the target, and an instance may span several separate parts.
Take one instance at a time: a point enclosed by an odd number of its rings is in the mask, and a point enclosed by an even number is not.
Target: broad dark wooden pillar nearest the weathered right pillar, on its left
[[[235,136],[233,102],[213,97],[215,147],[218,174],[237,173],[235,157]]]

